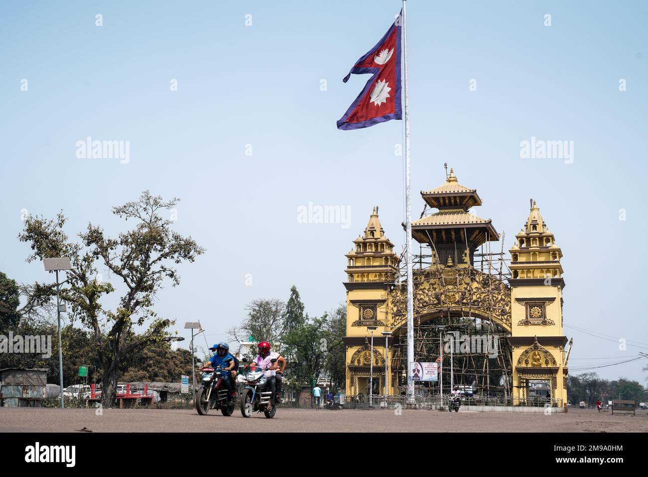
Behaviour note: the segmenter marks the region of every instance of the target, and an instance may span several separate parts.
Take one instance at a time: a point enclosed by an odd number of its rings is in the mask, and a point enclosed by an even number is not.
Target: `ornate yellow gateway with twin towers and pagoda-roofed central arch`
[[[446,173],[445,184],[421,191],[421,197],[425,202],[421,217],[411,223],[411,236],[421,251],[413,257],[413,359],[438,361],[441,345],[445,347],[441,341],[450,330],[454,337],[457,331],[470,336],[471,346],[483,336],[497,336],[502,345],[497,356],[466,352],[462,345],[462,356],[455,354],[452,360],[455,371],[455,360],[472,363],[461,366],[459,380],[464,376],[467,385],[481,380],[480,387],[490,396],[494,378],[501,384],[494,393],[520,402],[537,396],[537,389],[527,389],[529,381],[549,376],[553,403],[564,405],[569,353],[562,323],[562,251],[537,204],[531,202],[524,228],[509,249],[510,262],[505,263],[503,244],[500,253],[492,253],[490,245],[503,237],[491,219],[470,212],[481,206],[481,198],[475,189],[459,184],[452,169]],[[432,212],[434,209],[437,212]],[[388,356],[388,392],[401,393],[407,371],[407,353],[403,352],[407,292],[400,278],[404,264],[385,236],[377,207],[364,234],[353,240],[353,248],[345,256],[347,393],[356,392],[356,377],[368,371],[368,367],[366,371],[358,368],[359,360],[366,361],[360,358],[364,354],[359,348],[366,346],[367,337],[378,334],[388,336],[374,343],[375,351],[377,347]],[[446,327],[443,332],[439,325]],[[445,353],[443,350],[444,359]],[[496,363],[489,361],[492,358]],[[489,367],[491,362],[493,367]],[[430,389],[429,383],[421,387]]]

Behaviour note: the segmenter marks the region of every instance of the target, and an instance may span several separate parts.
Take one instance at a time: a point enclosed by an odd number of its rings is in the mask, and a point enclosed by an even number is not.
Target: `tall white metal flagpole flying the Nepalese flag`
[[[407,234],[407,398],[408,402],[414,400],[414,382],[411,376],[411,367],[414,362],[414,308],[412,292],[412,263],[411,263],[411,185],[410,185],[410,107],[407,88],[407,31],[405,19],[405,1],[403,0],[403,61],[404,61],[404,90],[405,90],[405,224]]]

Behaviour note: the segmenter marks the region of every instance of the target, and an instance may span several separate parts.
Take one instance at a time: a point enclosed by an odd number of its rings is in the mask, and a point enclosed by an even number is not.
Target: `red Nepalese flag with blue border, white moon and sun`
[[[338,121],[338,129],[359,129],[402,119],[400,108],[400,31],[402,12],[393,25],[369,52],[351,68],[351,74],[373,76],[364,90]]]

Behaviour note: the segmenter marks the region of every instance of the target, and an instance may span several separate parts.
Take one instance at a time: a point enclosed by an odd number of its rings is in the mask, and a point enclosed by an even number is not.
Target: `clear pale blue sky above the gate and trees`
[[[417,192],[443,182],[443,162],[478,189],[484,204],[473,212],[506,233],[507,249],[536,199],[564,252],[565,323],[612,340],[566,328],[574,368],[648,352],[647,5],[408,1],[413,216]],[[2,3],[0,269],[45,279],[40,263],[24,262],[21,210],[63,209],[70,234],[89,221],[115,233],[110,207],[149,189],[182,199],[177,228],[207,249],[159,294],[157,311],[183,336],[183,322],[200,319],[217,341],[247,302],[287,299],[293,284],[308,313],[330,310],[345,299],[343,254],[373,206],[404,243],[402,122],[336,129],[369,77],[341,79],[399,9],[397,0]],[[76,158],[87,136],[130,141],[130,162]],[[520,158],[532,136],[573,141],[573,164]],[[64,186],[50,188],[55,180]],[[308,202],[349,206],[351,228],[298,223]],[[620,351],[614,337],[643,349]],[[645,382],[646,361],[597,371]]]

